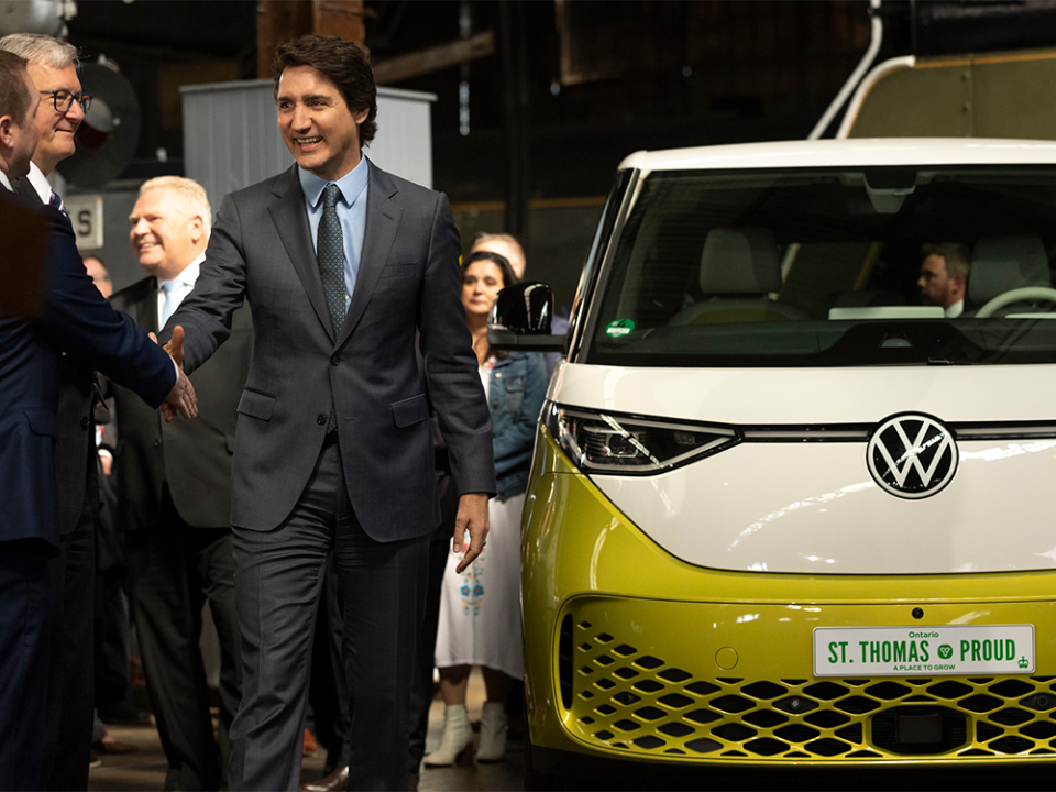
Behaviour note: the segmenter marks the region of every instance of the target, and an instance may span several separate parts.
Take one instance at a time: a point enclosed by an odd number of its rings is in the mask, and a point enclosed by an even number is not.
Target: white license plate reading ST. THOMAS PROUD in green
[[[1027,674],[1034,625],[815,627],[815,676]]]

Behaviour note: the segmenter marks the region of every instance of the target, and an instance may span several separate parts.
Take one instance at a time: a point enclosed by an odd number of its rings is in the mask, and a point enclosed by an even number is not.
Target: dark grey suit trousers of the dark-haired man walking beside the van
[[[428,541],[377,542],[364,532],[334,435],[278,528],[234,528],[243,695],[232,728],[231,792],[297,789],[312,628],[331,549],[352,711],[349,791],[407,789],[407,708]]]

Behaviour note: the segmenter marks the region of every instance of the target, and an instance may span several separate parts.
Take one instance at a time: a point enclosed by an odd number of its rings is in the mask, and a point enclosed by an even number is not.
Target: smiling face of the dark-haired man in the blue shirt
[[[333,81],[311,66],[289,66],[278,80],[278,129],[297,164],[337,182],[360,164],[359,124]]]

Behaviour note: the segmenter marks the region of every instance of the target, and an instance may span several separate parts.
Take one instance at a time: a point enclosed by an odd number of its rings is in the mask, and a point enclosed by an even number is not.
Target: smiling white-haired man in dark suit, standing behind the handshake
[[[157,332],[195,287],[212,212],[197,182],[162,176],[140,188],[130,220],[132,248],[148,275],[111,304]],[[241,308],[228,343],[191,377],[201,420],[166,424],[130,391],[113,389],[121,428],[118,525],[129,531],[129,583],[146,686],[168,759],[166,790],[216,792],[230,757],[228,732],[242,676],[231,455],[252,338],[249,309]],[[205,603],[220,638],[219,744],[199,648]]]

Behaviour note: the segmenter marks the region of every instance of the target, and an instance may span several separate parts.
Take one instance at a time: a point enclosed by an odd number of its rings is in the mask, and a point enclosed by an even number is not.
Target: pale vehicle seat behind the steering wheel
[[[968,299],[976,308],[1024,286],[1053,286],[1040,237],[983,237],[976,242],[968,271]]]

